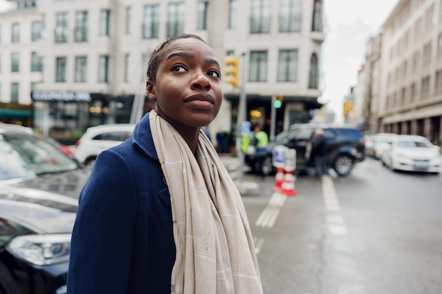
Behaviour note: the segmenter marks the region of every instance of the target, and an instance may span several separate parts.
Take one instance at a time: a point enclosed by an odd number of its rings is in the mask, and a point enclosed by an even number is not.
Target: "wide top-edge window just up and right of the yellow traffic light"
[[[251,34],[270,32],[270,13],[272,13],[270,0],[252,0],[250,19]]]

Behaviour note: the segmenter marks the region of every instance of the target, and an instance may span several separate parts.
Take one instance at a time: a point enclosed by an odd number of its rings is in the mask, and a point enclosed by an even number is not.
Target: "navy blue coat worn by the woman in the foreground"
[[[80,193],[69,294],[170,293],[175,261],[169,190],[149,115],[97,157]]]

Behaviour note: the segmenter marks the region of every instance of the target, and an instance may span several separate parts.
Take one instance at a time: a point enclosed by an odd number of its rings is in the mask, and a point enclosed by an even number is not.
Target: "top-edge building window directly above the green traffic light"
[[[301,0],[280,1],[280,32],[299,32],[301,30]]]

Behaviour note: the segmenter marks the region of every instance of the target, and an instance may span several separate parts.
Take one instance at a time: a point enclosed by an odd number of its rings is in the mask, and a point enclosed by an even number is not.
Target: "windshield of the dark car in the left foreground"
[[[0,180],[35,178],[76,168],[75,161],[39,137],[0,134]]]

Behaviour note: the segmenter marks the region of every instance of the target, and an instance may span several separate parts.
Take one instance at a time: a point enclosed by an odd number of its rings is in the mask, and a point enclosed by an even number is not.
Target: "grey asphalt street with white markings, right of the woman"
[[[296,196],[274,183],[242,197],[264,293],[442,293],[441,175],[367,158],[348,177],[297,176]]]

